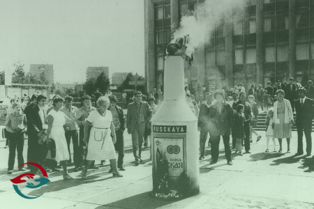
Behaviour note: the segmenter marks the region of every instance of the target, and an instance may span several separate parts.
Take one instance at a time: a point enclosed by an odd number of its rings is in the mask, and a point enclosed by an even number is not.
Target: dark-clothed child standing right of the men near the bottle
[[[244,137],[244,105],[237,105],[237,112],[234,114],[232,125],[232,138],[236,139],[236,148],[234,153],[242,156],[241,142]]]

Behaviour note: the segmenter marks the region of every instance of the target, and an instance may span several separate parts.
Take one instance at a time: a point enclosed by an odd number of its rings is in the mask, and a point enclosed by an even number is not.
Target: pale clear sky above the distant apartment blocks
[[[86,78],[89,66],[144,76],[144,0],[1,0],[0,70],[54,65],[54,82]]]

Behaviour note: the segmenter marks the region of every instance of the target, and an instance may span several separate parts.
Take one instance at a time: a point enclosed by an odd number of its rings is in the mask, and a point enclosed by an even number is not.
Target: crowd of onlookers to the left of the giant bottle
[[[98,90],[96,91],[96,93]],[[17,162],[24,164],[24,139],[28,137],[27,162],[43,166],[46,171],[63,168],[63,179],[70,180],[68,166],[73,162],[75,171],[82,170],[82,179],[87,178],[88,169],[98,169],[95,160],[101,164],[110,160],[110,173],[122,177],[124,169],[124,130],[132,135],[135,164],[142,162],[142,144],[148,148],[151,139],[150,119],[158,106],[154,97],[142,101],[144,95],[135,92],[134,102],[128,104],[127,118],[117,105],[117,97],[112,94],[94,94],[96,107],[92,107],[91,96],[82,96],[82,107],[73,106],[73,98],[53,95],[47,100],[45,95],[33,95],[27,107],[22,108],[20,100],[13,100],[6,118],[6,138],[8,139],[8,173],[13,173],[15,153]],[[73,159],[70,154],[73,144]],[[118,160],[116,153],[118,152]],[[151,158],[151,157],[150,157]],[[58,166],[59,162],[59,166]],[[26,171],[24,166],[18,168]],[[33,174],[43,176],[37,167],[29,164]],[[119,169],[119,171],[118,171]]]

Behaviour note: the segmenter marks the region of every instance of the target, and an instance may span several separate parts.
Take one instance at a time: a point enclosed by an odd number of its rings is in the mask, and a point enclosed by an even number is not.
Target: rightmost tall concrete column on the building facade
[[[296,55],[296,41],[295,41],[295,29],[296,29],[296,15],[295,15],[295,4],[296,0],[289,1],[289,17],[290,17],[290,30],[289,30],[289,54],[290,54],[290,67],[289,67],[289,77],[294,77],[295,75],[295,61],[297,59]]]

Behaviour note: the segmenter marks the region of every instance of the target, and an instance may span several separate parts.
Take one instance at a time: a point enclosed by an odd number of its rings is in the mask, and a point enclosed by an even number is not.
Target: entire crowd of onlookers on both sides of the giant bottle
[[[198,118],[200,131],[200,160],[203,160],[207,137],[211,149],[211,164],[218,161],[220,136],[223,138],[227,164],[232,165],[231,152],[237,155],[251,153],[253,134],[256,141],[262,135],[256,127],[259,107],[267,111],[265,118],[267,149],[272,139],[276,151],[283,152],[283,140],[287,141],[286,152],[290,153],[291,125],[297,124],[298,147],[296,155],[303,155],[303,134],[306,137],[306,156],[311,156],[311,130],[314,117],[314,87],[309,81],[306,88],[293,83],[271,87],[267,83],[265,89],[259,85],[252,86],[248,94],[239,84],[226,89],[207,91],[192,95],[185,88],[186,102]],[[266,96],[265,96],[266,94]],[[157,97],[157,98],[156,98]],[[8,109],[6,119],[7,139],[10,141],[8,173],[13,173],[15,152],[17,150],[18,164],[23,164],[24,137],[28,137],[27,162],[35,162],[45,167],[47,171],[59,171],[63,168],[63,179],[73,179],[68,174],[67,167],[74,162],[75,171],[82,170],[82,179],[87,179],[88,169],[98,169],[95,160],[101,164],[110,160],[110,173],[122,177],[119,171],[124,168],[124,130],[131,134],[135,165],[142,162],[142,146],[149,148],[151,144],[151,118],[163,101],[163,93],[154,89],[148,96],[136,91],[133,101],[128,104],[127,116],[117,105],[117,97],[107,92],[104,96],[97,90],[93,94],[96,107],[92,107],[91,96],[82,96],[82,107],[73,106],[73,98],[52,95],[47,100],[45,95],[33,95],[30,103],[24,107],[20,100],[13,100]],[[126,95],[123,95],[123,101]],[[196,99],[195,99],[196,98]],[[203,99],[204,98],[204,99]],[[270,102],[269,102],[270,101]],[[124,104],[123,104],[124,105]],[[297,119],[294,121],[294,110]],[[230,136],[232,141],[230,144]],[[70,141],[73,143],[73,159],[70,155]],[[242,152],[244,147],[245,152]],[[118,159],[116,160],[116,153]],[[150,159],[152,153],[150,155]],[[58,163],[59,162],[59,166]],[[36,167],[29,165],[31,173],[43,176]],[[26,169],[19,167],[20,171]]]

